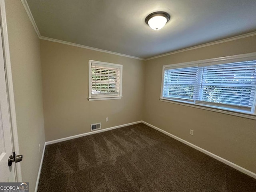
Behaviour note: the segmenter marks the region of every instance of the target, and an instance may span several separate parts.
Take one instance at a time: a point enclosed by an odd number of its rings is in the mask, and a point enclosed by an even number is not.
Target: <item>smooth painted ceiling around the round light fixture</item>
[[[256,31],[256,0],[27,0],[40,35],[150,58]],[[161,30],[148,14],[168,12]]]

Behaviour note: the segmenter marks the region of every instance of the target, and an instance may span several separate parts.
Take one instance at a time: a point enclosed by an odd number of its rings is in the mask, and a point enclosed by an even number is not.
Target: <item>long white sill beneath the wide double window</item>
[[[185,101],[176,101],[176,100],[170,100],[170,99],[166,99],[166,98],[160,98],[160,101],[256,120],[256,115],[254,115],[254,114],[246,114],[246,113],[242,113],[242,112],[232,112],[232,111],[227,111],[227,110],[220,109],[220,108],[219,109],[212,108],[210,106],[205,106],[205,105],[200,105],[200,104],[191,104],[191,103],[185,102]]]

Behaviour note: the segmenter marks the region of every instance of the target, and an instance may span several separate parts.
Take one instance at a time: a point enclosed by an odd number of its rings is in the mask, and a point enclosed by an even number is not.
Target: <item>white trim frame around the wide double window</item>
[[[210,110],[214,112],[244,117],[248,119],[254,119],[256,120],[256,107],[254,104],[253,113],[251,112],[241,112],[239,110],[232,109],[232,111],[228,108],[224,107],[217,107],[217,106],[208,106],[204,104],[196,104],[196,103],[190,103],[187,101],[181,101],[181,100],[175,100],[170,98],[163,98],[163,85],[164,85],[164,70],[167,69],[174,69],[174,68],[182,68],[182,67],[192,67],[192,66],[200,66],[202,63],[204,66],[207,65],[207,63],[214,63],[214,64],[224,64],[227,62],[239,62],[239,61],[245,61],[245,60],[255,60],[256,59],[256,52],[254,53],[248,53],[248,54],[240,54],[240,55],[234,55],[234,56],[227,56],[227,57],[220,57],[220,58],[213,58],[213,59],[206,59],[206,60],[198,60],[193,62],[184,62],[179,64],[170,64],[170,65],[164,65],[162,69],[162,84],[161,84],[161,95],[160,95],[160,101],[163,102],[169,102],[184,106],[190,106],[194,108],[200,108],[204,110]]]

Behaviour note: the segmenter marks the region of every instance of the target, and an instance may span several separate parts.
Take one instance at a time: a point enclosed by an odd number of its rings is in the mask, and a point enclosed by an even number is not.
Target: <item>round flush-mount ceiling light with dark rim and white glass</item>
[[[149,14],[145,22],[154,30],[160,30],[170,20],[170,15],[166,12],[158,11]]]

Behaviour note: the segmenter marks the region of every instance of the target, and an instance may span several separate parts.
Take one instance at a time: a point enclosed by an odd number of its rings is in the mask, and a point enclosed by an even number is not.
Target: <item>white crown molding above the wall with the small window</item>
[[[71,46],[75,46],[75,47],[80,47],[80,48],[84,48],[84,49],[89,49],[89,50],[114,54],[114,55],[123,56],[123,57],[129,57],[129,58],[133,58],[133,59],[145,60],[144,58],[140,58],[140,57],[135,57],[135,56],[126,55],[126,54],[122,54],[122,53],[116,53],[116,52],[112,52],[112,51],[107,51],[107,50],[103,50],[103,49],[98,49],[98,48],[94,48],[94,47],[89,47],[89,46],[85,46],[85,45],[80,45],[80,44],[76,44],[76,43],[71,43],[71,42],[62,41],[62,40],[58,40],[58,39],[53,39],[53,38],[49,38],[49,37],[40,36],[39,38],[42,39],[42,40],[62,43],[62,44],[71,45]]]

